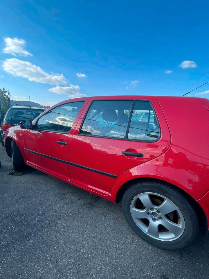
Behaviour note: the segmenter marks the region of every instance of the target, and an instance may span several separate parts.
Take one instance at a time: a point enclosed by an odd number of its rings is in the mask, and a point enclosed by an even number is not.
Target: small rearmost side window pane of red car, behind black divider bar
[[[138,119],[138,121],[134,119]],[[158,137],[158,121],[151,104],[148,101],[136,101],[129,126],[128,139],[150,142],[156,141]]]

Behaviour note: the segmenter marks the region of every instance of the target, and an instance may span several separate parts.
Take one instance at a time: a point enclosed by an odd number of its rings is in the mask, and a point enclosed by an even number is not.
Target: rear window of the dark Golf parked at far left
[[[37,116],[39,116],[45,110],[35,109],[35,108],[10,108],[8,111],[5,122],[10,122],[14,125],[18,125],[23,120],[34,120]]]

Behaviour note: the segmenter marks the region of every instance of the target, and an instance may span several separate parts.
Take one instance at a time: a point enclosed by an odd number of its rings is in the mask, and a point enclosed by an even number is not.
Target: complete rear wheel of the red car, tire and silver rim
[[[130,185],[122,198],[122,210],[134,232],[159,248],[183,248],[199,232],[197,214],[188,198],[168,183],[143,180]]]

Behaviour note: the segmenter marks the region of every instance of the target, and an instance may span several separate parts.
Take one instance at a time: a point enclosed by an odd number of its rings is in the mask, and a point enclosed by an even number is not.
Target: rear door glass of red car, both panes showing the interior
[[[127,132],[129,115],[131,112],[132,101],[95,101],[91,105],[89,112],[84,120],[80,130],[81,134],[97,135],[102,137],[124,138]],[[136,101],[134,111],[153,111],[149,102]],[[102,116],[103,124],[101,125],[96,116]],[[94,120],[97,119],[97,120]],[[150,128],[150,121],[130,121],[128,139],[154,141],[159,136],[159,126],[156,117],[154,117],[154,125]],[[152,120],[153,121],[153,120]]]

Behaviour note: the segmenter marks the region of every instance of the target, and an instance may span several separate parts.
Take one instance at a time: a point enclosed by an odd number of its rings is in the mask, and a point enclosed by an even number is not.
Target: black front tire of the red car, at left
[[[21,171],[26,167],[25,161],[17,146],[16,142],[11,141],[11,151],[12,151],[12,167],[15,171]]]

